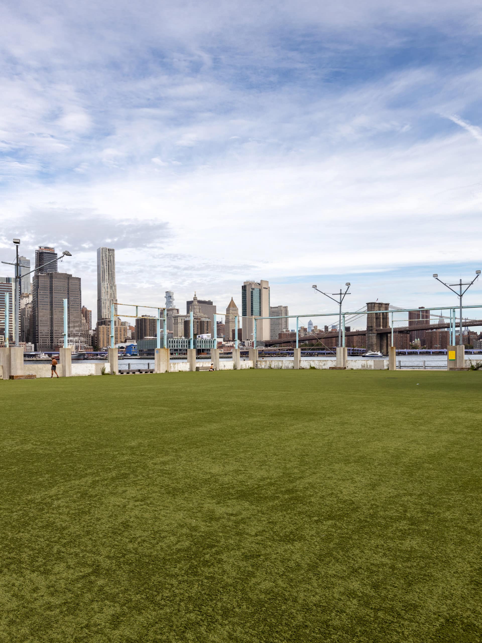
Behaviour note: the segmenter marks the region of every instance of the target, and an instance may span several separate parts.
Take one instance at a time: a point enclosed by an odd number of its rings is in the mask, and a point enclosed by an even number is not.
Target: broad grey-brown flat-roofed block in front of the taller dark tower
[[[80,277],[67,273],[39,273],[33,277],[33,343],[36,350],[53,350],[64,344],[64,299],[67,300],[68,334],[82,330]]]

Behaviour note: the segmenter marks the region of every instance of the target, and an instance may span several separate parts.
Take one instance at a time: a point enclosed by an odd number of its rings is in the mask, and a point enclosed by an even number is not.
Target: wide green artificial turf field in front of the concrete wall
[[[0,640],[482,640],[481,385],[0,381]]]

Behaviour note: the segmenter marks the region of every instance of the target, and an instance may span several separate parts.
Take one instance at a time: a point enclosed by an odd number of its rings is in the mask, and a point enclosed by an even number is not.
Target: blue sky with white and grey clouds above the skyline
[[[100,245],[121,301],[181,311],[240,305],[248,278],[292,313],[346,280],[352,309],[449,305],[432,273],[482,267],[479,2],[7,0],[0,21],[0,258],[69,249],[94,318]]]

